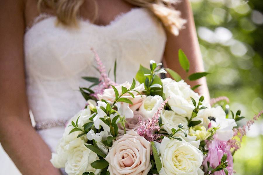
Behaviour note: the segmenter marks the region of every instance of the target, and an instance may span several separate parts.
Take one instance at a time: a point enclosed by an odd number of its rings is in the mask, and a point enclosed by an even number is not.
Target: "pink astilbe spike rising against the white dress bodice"
[[[100,72],[100,78],[99,81],[100,83],[98,84],[98,87],[94,89],[94,94],[92,94],[94,97],[98,98],[98,94],[103,94],[104,89],[107,89],[110,87],[110,85],[116,85],[115,82],[111,81],[108,75],[106,74],[105,66],[103,65],[100,57],[96,53],[96,51],[91,48],[92,52],[95,55],[95,61],[98,65],[98,71]]]

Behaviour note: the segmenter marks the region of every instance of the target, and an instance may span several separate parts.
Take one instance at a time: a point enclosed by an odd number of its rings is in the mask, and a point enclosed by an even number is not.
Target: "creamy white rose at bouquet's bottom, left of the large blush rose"
[[[96,160],[99,160],[98,155],[81,144],[69,153],[65,171],[69,175],[82,175],[84,172],[99,174],[100,169],[91,167],[91,163]]]

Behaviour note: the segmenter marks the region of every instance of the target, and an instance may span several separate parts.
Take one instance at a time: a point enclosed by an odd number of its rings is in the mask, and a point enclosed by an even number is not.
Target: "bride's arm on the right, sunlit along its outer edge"
[[[195,72],[204,71],[202,55],[200,52],[198,39],[195,30],[195,24],[191,6],[188,0],[181,1],[177,6],[177,10],[181,11],[181,17],[187,20],[184,25],[185,29],[179,31],[179,36],[174,36],[167,31],[167,43],[164,53],[164,66],[176,71],[183,79],[186,80],[187,75]],[[189,73],[186,74],[184,69],[181,68],[178,60],[178,50],[182,49],[190,62]],[[201,84],[196,92],[209,98],[209,92],[205,78],[201,78],[197,81],[186,82],[193,87],[194,85]]]

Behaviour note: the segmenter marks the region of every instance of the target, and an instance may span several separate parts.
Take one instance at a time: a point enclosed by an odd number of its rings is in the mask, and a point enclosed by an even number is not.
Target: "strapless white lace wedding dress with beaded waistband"
[[[123,83],[132,81],[140,64],[161,62],[165,42],[161,22],[144,8],[133,8],[107,26],[81,20],[77,29],[56,26],[56,17],[40,15],[24,37],[27,97],[37,132],[51,151],[64,132],[64,122],[85,106],[78,88],[90,83],[81,77],[99,76],[91,48],[107,70],[112,68],[110,75],[117,59],[117,83]],[[0,160],[7,162],[1,174],[15,174],[10,160]]]

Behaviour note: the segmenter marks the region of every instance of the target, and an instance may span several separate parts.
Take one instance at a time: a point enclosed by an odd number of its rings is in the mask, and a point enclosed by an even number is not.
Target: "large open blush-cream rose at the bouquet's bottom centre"
[[[134,130],[120,136],[109,148],[105,160],[109,162],[111,175],[146,175],[150,164],[151,144]]]

